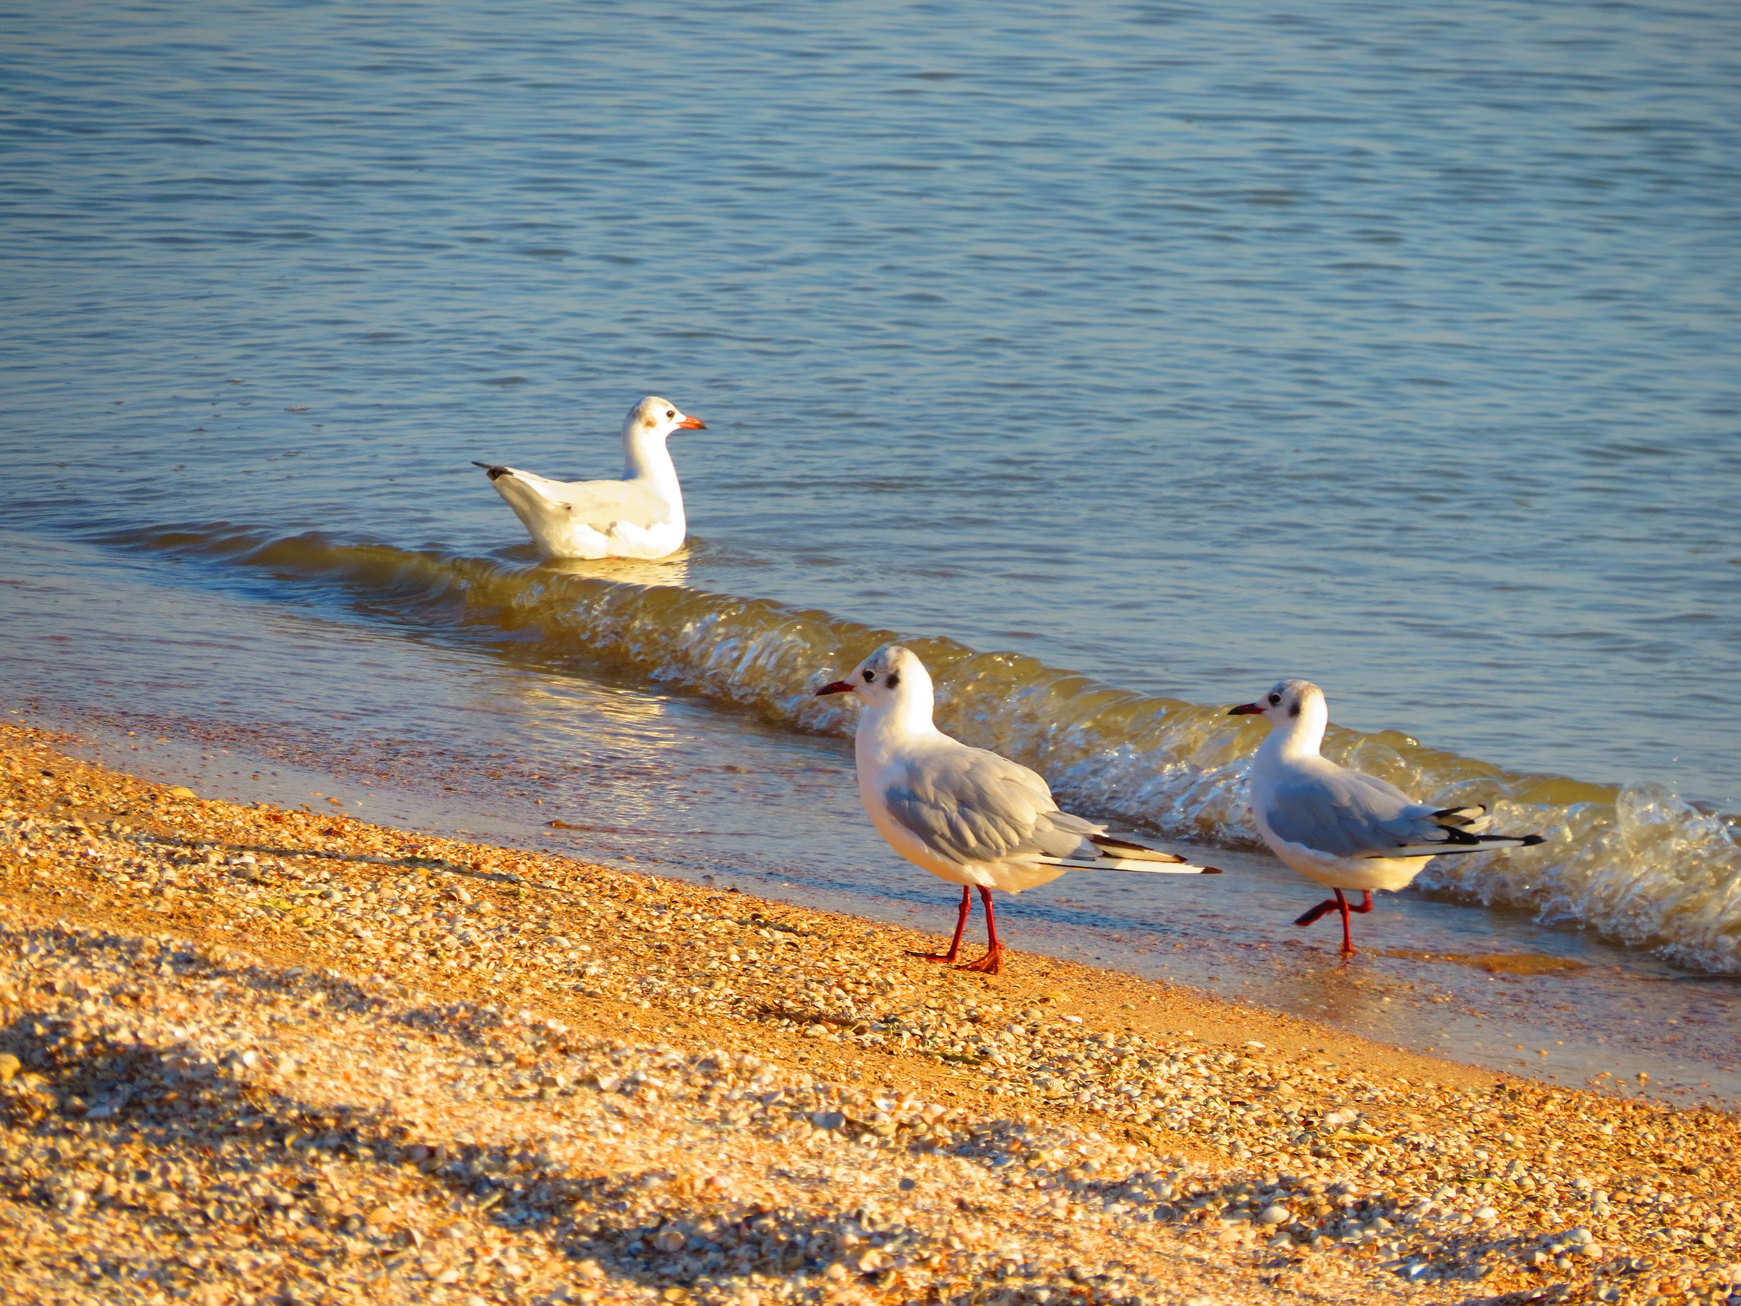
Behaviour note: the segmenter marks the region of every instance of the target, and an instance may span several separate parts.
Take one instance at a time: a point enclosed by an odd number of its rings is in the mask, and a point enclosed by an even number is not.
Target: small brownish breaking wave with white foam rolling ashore
[[[879,630],[825,611],[674,583],[669,562],[552,562],[406,550],[237,526],[164,528],[103,543],[204,557],[420,625],[512,634],[517,658],[602,665],[756,712],[789,730],[846,735],[848,710],[813,690],[900,637],[926,660],[938,724],[1041,771],[1106,818],[1200,843],[1254,846],[1245,775],[1264,728],[1226,705],[1118,690],[1018,653]],[[1659,785],[1506,771],[1382,731],[1330,728],[1325,754],[1440,806],[1487,803],[1496,827],[1539,848],[1438,858],[1419,886],[1598,932],[1691,970],[1741,972],[1736,822]]]

